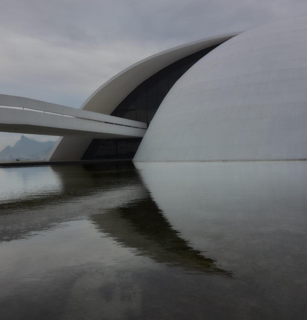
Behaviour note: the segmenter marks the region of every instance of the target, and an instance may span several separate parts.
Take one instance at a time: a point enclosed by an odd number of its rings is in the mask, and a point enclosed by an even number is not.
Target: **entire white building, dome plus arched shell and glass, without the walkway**
[[[69,133],[49,160],[307,159],[306,52],[303,17],[155,54],[80,108],[150,124],[144,138]]]

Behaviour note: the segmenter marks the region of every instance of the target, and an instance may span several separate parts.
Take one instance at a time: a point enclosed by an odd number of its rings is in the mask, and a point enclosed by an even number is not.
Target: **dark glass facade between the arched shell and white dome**
[[[111,113],[111,116],[150,123],[162,100],[175,82],[219,44],[195,52],[158,71],[136,87]],[[82,160],[132,159],[142,138],[93,139]]]

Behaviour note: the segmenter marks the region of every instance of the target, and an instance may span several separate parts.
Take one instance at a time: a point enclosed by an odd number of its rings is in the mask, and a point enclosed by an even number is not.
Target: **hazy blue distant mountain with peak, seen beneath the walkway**
[[[45,160],[54,144],[53,141],[39,142],[22,135],[14,147],[7,146],[0,151],[0,160]]]

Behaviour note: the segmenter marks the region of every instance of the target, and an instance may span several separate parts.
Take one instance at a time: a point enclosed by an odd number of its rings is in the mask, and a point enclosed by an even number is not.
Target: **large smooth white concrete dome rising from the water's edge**
[[[134,161],[307,158],[307,18],[241,33],[171,88]]]

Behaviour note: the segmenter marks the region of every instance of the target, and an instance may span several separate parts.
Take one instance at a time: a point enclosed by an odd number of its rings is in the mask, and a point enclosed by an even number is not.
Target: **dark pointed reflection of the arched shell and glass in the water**
[[[132,248],[137,255],[170,267],[184,268],[186,272],[233,275],[217,268],[216,261],[205,258],[201,251],[189,246],[150,197],[104,214],[92,215],[91,219],[103,233]]]

